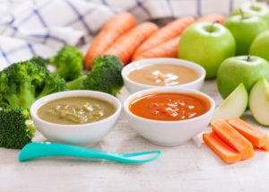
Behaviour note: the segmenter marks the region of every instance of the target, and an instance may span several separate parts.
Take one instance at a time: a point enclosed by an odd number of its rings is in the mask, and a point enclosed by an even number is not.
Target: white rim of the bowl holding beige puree
[[[195,79],[192,82],[189,83],[182,83],[182,84],[177,84],[177,85],[172,85],[172,86],[161,86],[161,85],[149,85],[149,84],[143,84],[143,83],[137,83],[131,80],[128,76],[128,73],[133,71],[135,68],[143,68],[148,65],[154,65],[154,64],[168,64],[168,65],[183,65],[187,66],[191,69],[194,69],[195,72],[198,73],[199,77]],[[144,65],[144,66],[143,66]],[[169,57],[160,57],[160,58],[148,58],[148,59],[142,59],[138,61],[134,61],[128,65],[126,65],[122,72],[121,75],[124,80],[134,83],[135,85],[140,85],[146,88],[159,88],[159,87],[177,87],[177,86],[186,86],[186,85],[191,85],[194,83],[197,83],[199,81],[203,81],[205,78],[205,70],[201,65],[196,64],[195,62],[192,61],[187,61],[184,59],[179,59],[179,58],[169,58]]]

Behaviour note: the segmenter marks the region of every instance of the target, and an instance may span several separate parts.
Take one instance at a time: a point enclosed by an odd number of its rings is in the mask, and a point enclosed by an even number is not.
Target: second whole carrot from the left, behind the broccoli
[[[135,49],[156,31],[158,31],[158,26],[156,24],[152,22],[143,22],[117,39],[104,55],[115,55],[126,65],[134,54]]]

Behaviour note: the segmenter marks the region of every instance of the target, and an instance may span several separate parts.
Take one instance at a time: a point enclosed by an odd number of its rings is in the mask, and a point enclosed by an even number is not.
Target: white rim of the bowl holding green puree
[[[81,95],[81,93],[85,93],[85,95]],[[92,95],[95,94],[95,95]],[[114,100],[114,103],[112,103],[109,100],[106,100],[104,98],[101,98],[101,100],[105,100],[108,103],[114,105],[114,107],[116,108],[115,112],[109,116],[108,118],[103,118],[101,120],[92,122],[92,123],[85,123],[85,124],[75,124],[75,125],[65,125],[65,124],[56,124],[56,123],[52,123],[46,120],[43,120],[42,118],[39,118],[38,116],[38,109],[43,106],[44,104],[48,103],[51,100],[57,100],[57,99],[61,99],[61,98],[68,98],[68,97],[72,97],[72,96],[86,96],[89,95],[89,97],[92,98],[98,98],[98,95],[103,95],[105,97],[108,97],[112,100]],[[58,97],[56,97],[58,96]],[[55,97],[55,98],[54,98]],[[118,113],[120,113],[122,109],[122,105],[121,102],[114,96],[106,93],[106,92],[97,92],[97,91],[91,91],[91,90],[74,90],[74,91],[64,91],[64,92],[55,92],[49,95],[46,95],[45,97],[40,98],[39,100],[36,100],[30,107],[30,116],[32,118],[36,118],[38,119],[40,122],[51,125],[51,126],[58,126],[58,127],[63,127],[63,128],[82,128],[84,126],[90,126],[90,125],[95,125],[95,124],[99,124],[102,123],[103,121],[106,121],[110,118],[114,118],[114,116],[117,116]],[[89,127],[85,127],[85,128],[89,128]]]

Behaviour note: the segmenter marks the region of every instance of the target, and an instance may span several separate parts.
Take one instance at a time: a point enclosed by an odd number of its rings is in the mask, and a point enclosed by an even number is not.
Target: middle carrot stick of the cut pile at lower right
[[[218,135],[223,142],[239,152],[242,160],[253,156],[253,145],[239,132],[231,127],[225,120],[216,120],[211,123],[213,133]]]

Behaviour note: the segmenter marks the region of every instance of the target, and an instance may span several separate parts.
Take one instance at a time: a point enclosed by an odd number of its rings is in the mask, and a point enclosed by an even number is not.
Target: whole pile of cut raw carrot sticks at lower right
[[[254,148],[269,151],[269,136],[240,118],[212,122],[212,133],[203,135],[204,143],[227,163],[247,160]]]

